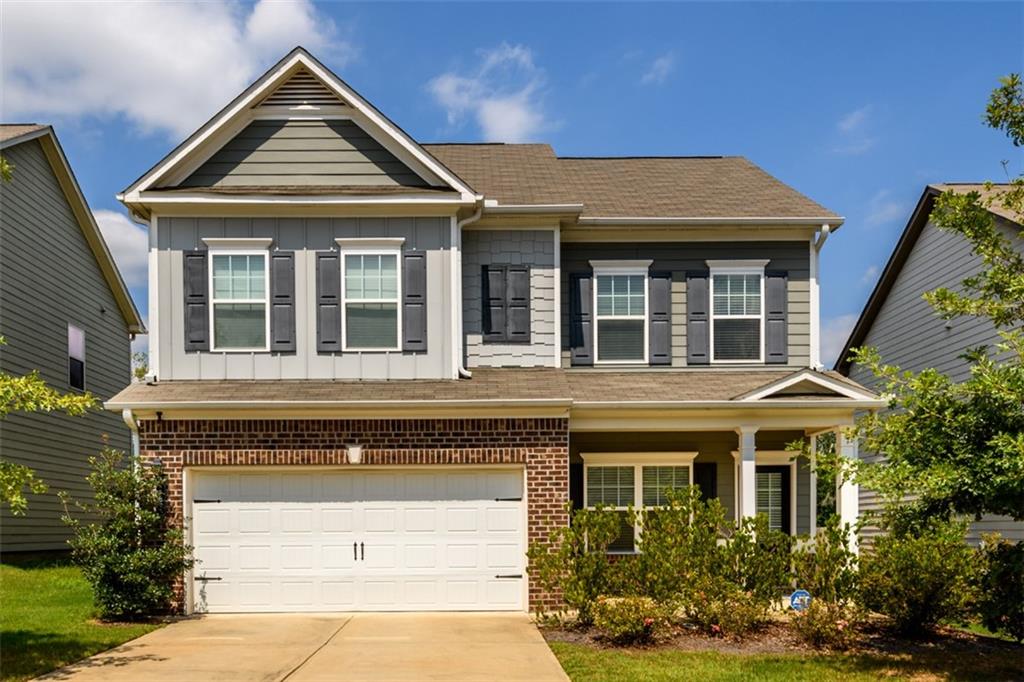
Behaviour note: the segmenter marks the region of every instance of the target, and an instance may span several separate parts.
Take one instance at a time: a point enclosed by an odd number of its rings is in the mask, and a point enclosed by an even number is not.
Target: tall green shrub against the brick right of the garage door
[[[561,595],[577,611],[578,623],[589,626],[597,598],[610,592],[613,573],[607,551],[618,536],[620,519],[604,508],[570,508],[569,514],[568,526],[553,530],[546,543],[530,544],[529,576],[544,590]]]

